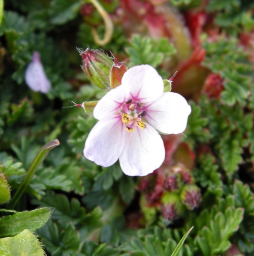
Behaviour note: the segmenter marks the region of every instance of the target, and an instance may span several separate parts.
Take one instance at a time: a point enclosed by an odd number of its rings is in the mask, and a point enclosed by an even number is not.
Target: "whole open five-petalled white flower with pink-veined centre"
[[[145,176],[160,167],[165,148],[157,131],[183,132],[191,111],[181,95],[163,90],[163,79],[151,66],[126,71],[121,86],[108,92],[93,110],[99,122],[86,139],[85,157],[104,167],[119,158],[129,176]]]

